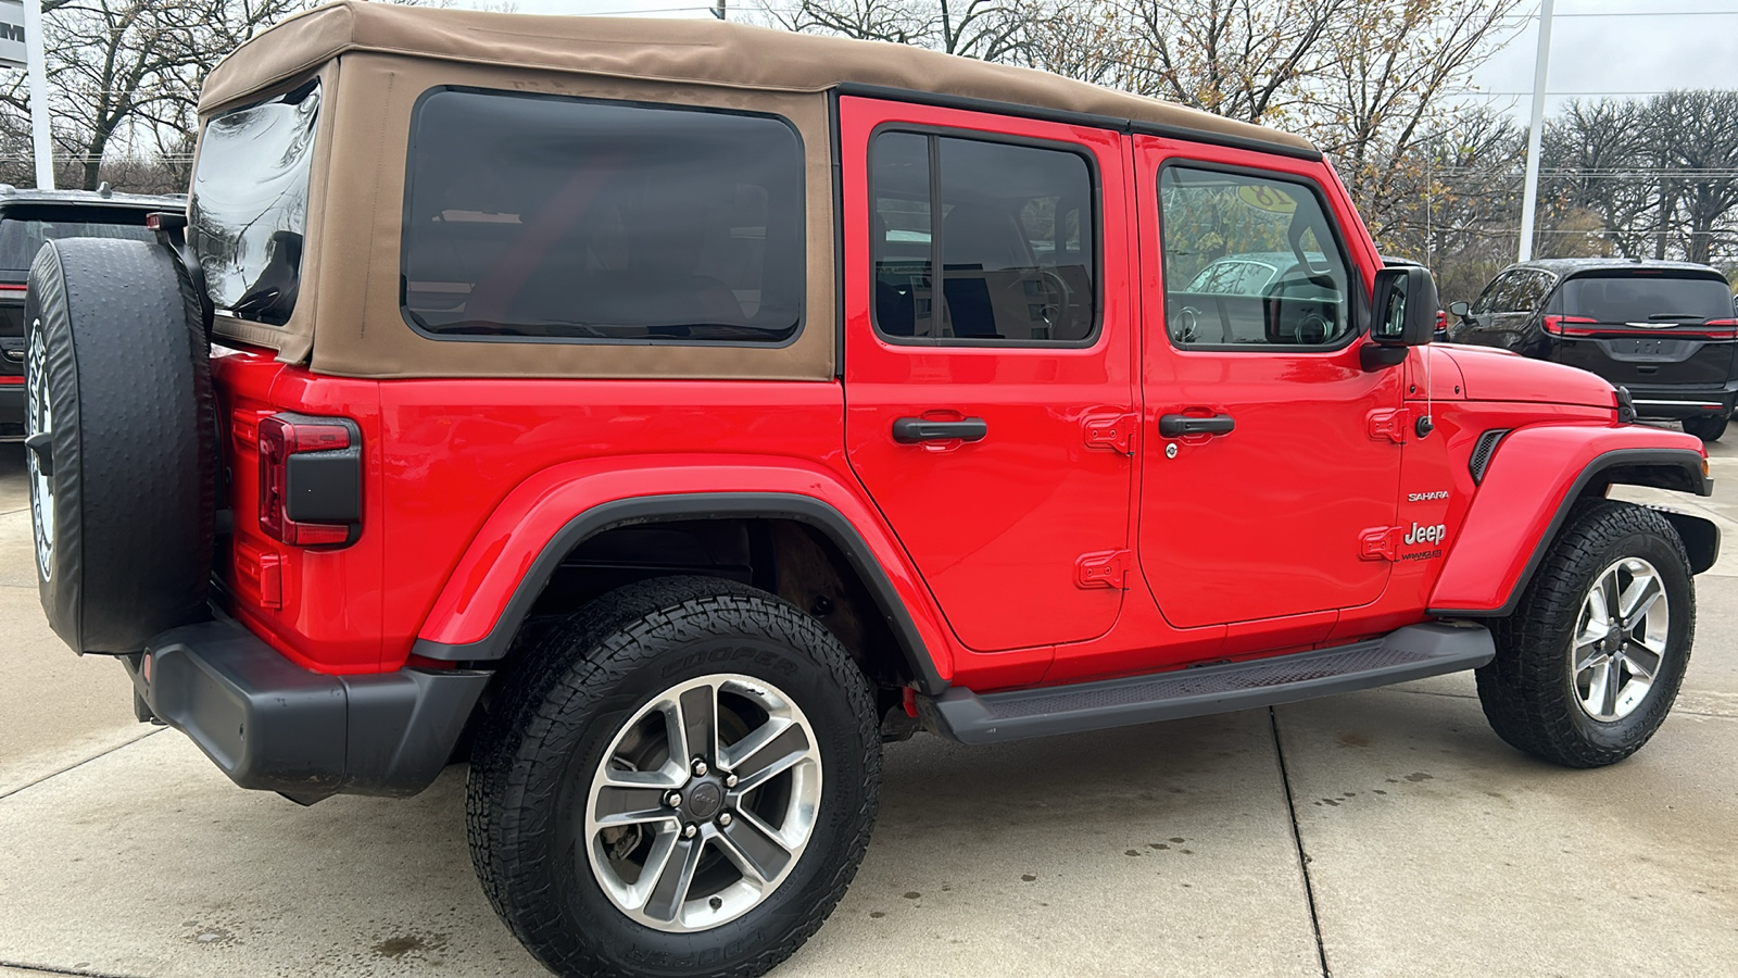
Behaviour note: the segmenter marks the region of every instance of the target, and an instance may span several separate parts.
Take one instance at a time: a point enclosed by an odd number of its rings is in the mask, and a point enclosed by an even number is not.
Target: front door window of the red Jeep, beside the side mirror
[[[1335,348],[1356,334],[1352,275],[1298,178],[1159,171],[1164,322],[1182,348]]]

